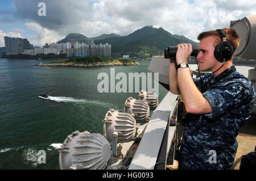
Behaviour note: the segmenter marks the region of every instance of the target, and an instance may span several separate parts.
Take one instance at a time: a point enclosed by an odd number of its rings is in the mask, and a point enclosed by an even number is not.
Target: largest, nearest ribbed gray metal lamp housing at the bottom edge
[[[110,144],[100,133],[70,134],[59,149],[61,170],[103,170],[110,159]]]

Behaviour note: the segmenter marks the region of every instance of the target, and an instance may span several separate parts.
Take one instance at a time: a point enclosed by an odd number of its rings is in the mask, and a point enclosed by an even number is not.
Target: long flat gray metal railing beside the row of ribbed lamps
[[[176,126],[170,127],[177,112],[177,95],[168,92],[152,113],[129,170],[166,169],[168,151]]]

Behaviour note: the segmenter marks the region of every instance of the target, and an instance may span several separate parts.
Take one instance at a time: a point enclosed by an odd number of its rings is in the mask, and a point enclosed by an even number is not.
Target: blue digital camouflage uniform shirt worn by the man
[[[181,141],[180,169],[232,169],[237,134],[249,119],[255,98],[253,84],[235,70],[233,65],[215,78],[213,74],[201,77],[212,113],[189,117]],[[201,79],[193,80],[201,91]],[[216,151],[216,163],[210,150]]]

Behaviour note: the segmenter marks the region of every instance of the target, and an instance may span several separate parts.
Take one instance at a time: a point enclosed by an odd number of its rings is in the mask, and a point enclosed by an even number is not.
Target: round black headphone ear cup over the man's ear
[[[233,54],[233,46],[229,41],[222,41],[214,49],[214,57],[219,62],[229,60]]]

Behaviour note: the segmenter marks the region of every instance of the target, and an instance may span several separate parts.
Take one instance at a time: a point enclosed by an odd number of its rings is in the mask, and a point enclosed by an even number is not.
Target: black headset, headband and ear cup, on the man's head
[[[214,49],[214,57],[219,62],[229,60],[233,54],[233,44],[226,40],[226,33],[222,29],[216,30],[220,34],[221,43]]]

